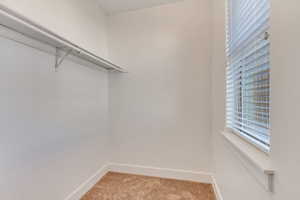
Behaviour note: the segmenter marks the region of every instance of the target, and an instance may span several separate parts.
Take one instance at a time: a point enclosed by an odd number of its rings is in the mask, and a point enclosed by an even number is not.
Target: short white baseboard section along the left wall
[[[109,171],[109,166],[105,165],[99,169],[93,176],[82,183],[74,192],[69,194],[65,200],[80,200],[81,197],[86,194],[107,172]]]

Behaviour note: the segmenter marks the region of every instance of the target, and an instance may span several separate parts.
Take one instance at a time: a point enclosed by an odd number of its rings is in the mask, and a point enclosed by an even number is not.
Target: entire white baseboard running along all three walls
[[[211,173],[118,163],[109,163],[99,169],[93,176],[82,183],[74,192],[68,195],[65,200],[80,200],[80,198],[109,171],[209,183],[213,186],[217,200],[223,200],[216,180]]]

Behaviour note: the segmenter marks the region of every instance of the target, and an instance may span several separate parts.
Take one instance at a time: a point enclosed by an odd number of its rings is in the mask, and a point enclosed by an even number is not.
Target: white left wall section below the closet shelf
[[[0,44],[0,199],[63,200],[109,159],[107,73]]]

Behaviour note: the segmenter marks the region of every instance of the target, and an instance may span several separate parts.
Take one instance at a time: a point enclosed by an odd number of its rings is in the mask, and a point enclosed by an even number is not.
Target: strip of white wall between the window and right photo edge
[[[271,158],[275,200],[300,196],[300,2],[271,1]]]

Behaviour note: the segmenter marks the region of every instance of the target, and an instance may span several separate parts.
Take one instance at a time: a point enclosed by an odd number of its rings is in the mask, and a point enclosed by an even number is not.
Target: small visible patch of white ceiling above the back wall
[[[108,14],[149,8],[176,1],[180,0],[98,0],[102,9]]]

